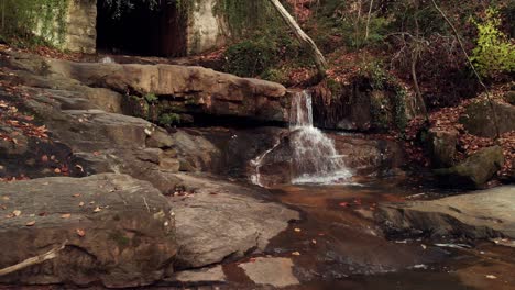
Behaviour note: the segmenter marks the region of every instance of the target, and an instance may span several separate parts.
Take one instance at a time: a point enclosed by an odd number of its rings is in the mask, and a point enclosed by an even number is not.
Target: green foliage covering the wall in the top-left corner
[[[30,46],[65,42],[66,13],[70,0],[2,0],[1,36],[4,41]]]

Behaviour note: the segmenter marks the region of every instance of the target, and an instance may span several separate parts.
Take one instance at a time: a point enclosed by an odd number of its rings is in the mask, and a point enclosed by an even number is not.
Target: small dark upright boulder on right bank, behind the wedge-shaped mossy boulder
[[[458,131],[430,129],[427,135],[429,156],[435,167],[443,168],[454,165]]]

